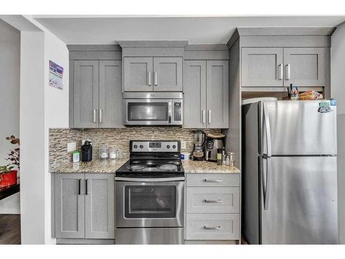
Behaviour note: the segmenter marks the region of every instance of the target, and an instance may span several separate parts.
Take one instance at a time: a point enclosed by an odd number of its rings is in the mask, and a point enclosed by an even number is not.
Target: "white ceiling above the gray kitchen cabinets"
[[[117,40],[178,40],[226,44],[237,27],[337,26],[345,16],[116,17],[36,15],[66,44],[115,44]]]

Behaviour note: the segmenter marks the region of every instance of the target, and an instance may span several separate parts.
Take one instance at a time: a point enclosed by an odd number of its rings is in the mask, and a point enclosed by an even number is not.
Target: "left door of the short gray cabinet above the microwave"
[[[153,90],[152,57],[124,58],[124,90],[146,92]]]

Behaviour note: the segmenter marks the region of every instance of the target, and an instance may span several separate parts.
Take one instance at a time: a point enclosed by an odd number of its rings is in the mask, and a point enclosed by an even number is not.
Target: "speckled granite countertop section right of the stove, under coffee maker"
[[[235,166],[217,166],[216,162],[183,160],[185,173],[241,173]]]

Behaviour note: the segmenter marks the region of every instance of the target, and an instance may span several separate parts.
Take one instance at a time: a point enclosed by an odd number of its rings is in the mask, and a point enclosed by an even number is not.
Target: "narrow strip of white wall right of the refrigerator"
[[[337,99],[339,242],[345,244],[345,23],[332,35],[331,96]]]

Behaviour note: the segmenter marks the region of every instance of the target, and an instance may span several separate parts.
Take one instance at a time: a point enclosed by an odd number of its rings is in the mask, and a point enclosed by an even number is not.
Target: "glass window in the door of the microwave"
[[[128,103],[128,121],[167,121],[167,102],[130,102]]]

